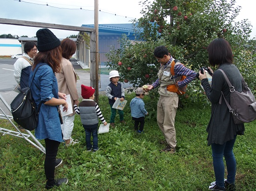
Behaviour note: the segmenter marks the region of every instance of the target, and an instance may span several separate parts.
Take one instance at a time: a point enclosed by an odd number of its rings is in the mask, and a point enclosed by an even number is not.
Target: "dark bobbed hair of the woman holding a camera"
[[[229,42],[224,38],[214,39],[207,47],[209,64],[216,66],[220,64],[232,64],[233,53]]]

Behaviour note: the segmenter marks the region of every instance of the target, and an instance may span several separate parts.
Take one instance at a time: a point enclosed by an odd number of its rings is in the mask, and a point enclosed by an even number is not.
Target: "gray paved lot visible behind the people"
[[[13,91],[13,89],[17,85],[13,77],[13,64],[16,60],[17,59],[0,59],[0,94],[8,104],[10,104],[13,101],[14,97],[18,94],[17,92]],[[76,87],[78,90],[78,95],[81,96],[81,84],[90,86],[90,73],[88,71],[78,70],[81,69],[81,66],[77,62],[72,61],[72,64],[75,72],[80,78],[79,80],[77,80]],[[103,91],[106,90],[109,84],[108,75],[101,74],[99,78],[99,92],[100,94],[103,94]],[[124,88],[132,87],[132,85],[129,83],[122,83],[122,85],[124,86]],[[10,115],[7,108],[1,101],[0,108],[2,108],[4,112],[7,113],[7,115]],[[0,114],[2,114],[1,111]]]

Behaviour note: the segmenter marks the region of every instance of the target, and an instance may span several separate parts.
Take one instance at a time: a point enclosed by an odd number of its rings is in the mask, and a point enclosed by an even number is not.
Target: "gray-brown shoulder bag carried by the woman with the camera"
[[[232,113],[233,120],[235,124],[248,123],[256,119],[256,100],[253,96],[251,90],[248,88],[247,83],[245,83],[243,76],[241,75],[243,83],[243,91],[237,92],[235,88],[229,82],[228,77],[225,72],[219,69],[224,75],[230,89],[230,105],[225,99],[223,92],[222,96],[229,108],[229,112]],[[219,104],[222,102],[222,96],[220,97]]]

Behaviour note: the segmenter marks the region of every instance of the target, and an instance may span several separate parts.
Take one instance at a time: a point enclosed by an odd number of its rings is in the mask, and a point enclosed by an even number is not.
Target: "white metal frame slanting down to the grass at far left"
[[[3,102],[3,104],[6,106],[6,108],[10,111],[10,113],[12,113],[11,107],[8,105],[8,103],[5,101],[5,99],[2,97],[1,94],[0,94],[0,100]],[[13,131],[13,130],[9,130],[9,129],[0,127],[0,133],[2,133],[2,135],[9,134],[9,135],[13,135],[15,137],[23,138],[23,139],[27,140],[30,144],[32,144],[33,146],[38,148],[41,152],[45,153],[45,147],[41,145],[41,143],[34,137],[34,135],[30,131],[24,129],[27,132],[27,134],[21,133],[20,129],[18,127],[16,127],[16,125],[12,121],[13,116],[7,115],[1,107],[0,107],[0,110],[3,113],[3,114],[0,114],[0,119],[8,120],[12,124],[12,126],[17,130],[17,131]]]

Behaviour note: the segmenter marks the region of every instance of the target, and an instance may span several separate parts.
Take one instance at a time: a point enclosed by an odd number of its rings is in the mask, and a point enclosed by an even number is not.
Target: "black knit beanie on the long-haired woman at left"
[[[50,51],[61,45],[61,41],[49,29],[39,29],[36,32],[38,51]]]

